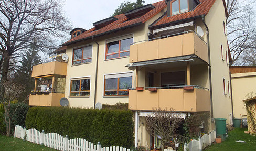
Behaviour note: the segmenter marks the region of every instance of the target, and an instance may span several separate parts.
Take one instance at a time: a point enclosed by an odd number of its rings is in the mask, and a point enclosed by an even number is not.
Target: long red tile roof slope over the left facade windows
[[[116,15],[114,17],[118,18],[118,20],[114,21],[113,23],[111,23],[101,29],[98,29],[98,30],[95,27],[93,27],[93,28],[85,31],[84,33],[80,34],[79,36],[77,36],[73,39],[70,39],[69,41],[65,42],[64,44],[62,44],[60,46],[67,46],[67,45],[73,44],[74,42],[79,42],[82,40],[92,38],[93,36],[97,37],[97,36],[101,36],[101,35],[104,35],[107,33],[111,33],[116,30],[143,24],[148,19],[152,18],[157,13],[161,12],[161,10],[163,10],[167,6],[165,4],[165,1],[156,2],[152,5],[155,6],[155,8],[150,10],[149,12],[147,12],[146,14],[144,14],[143,16],[141,16],[139,18],[128,20],[129,18],[127,18],[124,14]]]

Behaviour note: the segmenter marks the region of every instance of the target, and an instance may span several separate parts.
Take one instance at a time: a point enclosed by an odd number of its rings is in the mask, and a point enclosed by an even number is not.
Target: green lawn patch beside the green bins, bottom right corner
[[[256,150],[256,136],[244,133],[247,129],[244,128],[235,128],[230,131],[226,141],[222,141],[220,144],[212,144],[204,150],[225,150],[225,151],[235,151],[235,150]],[[246,143],[236,142],[238,140],[246,141]]]

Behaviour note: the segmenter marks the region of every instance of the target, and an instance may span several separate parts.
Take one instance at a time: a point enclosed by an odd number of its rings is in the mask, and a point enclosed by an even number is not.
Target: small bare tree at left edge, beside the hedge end
[[[10,113],[10,106],[12,102],[17,100],[22,93],[25,92],[25,87],[23,85],[17,85],[10,81],[3,81],[0,83],[0,104],[3,104],[5,111],[5,122],[7,123],[7,136],[10,136],[11,126],[12,126],[12,117],[19,105],[16,106],[14,111]]]

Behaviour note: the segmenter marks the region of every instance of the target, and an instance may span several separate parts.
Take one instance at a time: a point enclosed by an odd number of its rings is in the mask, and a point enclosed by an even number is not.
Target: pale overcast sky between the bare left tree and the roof
[[[136,0],[130,0],[136,2]],[[145,0],[144,5],[161,0]],[[68,15],[73,28],[90,29],[92,23],[108,18],[124,1],[116,0],[66,0],[63,10]],[[127,1],[125,1],[127,2]]]

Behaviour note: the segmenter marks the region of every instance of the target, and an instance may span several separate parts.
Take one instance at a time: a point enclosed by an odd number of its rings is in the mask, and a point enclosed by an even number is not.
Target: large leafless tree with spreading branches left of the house
[[[0,0],[1,81],[8,79],[10,66],[20,61],[33,40],[42,52],[49,52],[65,37],[71,26],[62,4],[61,0]]]

